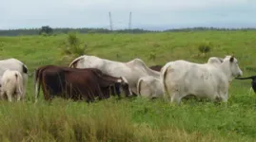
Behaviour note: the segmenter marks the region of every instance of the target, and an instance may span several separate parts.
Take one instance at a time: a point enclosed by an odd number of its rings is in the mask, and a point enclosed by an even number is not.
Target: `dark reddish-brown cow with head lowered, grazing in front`
[[[92,101],[97,96],[108,98],[110,86],[121,83],[128,96],[128,82],[124,78],[111,78],[96,69],[76,69],[55,65],[39,67],[34,73],[35,102],[39,95],[40,85],[43,87],[44,97],[49,100],[53,96],[72,98],[74,100],[87,99]]]

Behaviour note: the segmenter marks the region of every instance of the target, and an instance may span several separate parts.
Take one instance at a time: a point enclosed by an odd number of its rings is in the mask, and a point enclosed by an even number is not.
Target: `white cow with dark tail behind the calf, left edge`
[[[0,76],[3,76],[4,72],[6,70],[16,70],[18,71],[23,78],[23,94],[26,94],[26,88],[27,88],[27,82],[28,82],[28,68],[27,66],[23,63],[20,62],[19,60],[16,59],[7,59],[7,60],[1,60],[0,61]]]

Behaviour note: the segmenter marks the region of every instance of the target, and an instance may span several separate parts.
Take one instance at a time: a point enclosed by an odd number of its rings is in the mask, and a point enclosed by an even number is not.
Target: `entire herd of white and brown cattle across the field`
[[[115,62],[84,55],[70,62],[69,67],[40,66],[33,78],[35,102],[42,87],[46,100],[61,97],[91,102],[110,95],[120,97],[123,92],[126,97],[166,97],[180,103],[188,96],[226,102],[229,83],[234,79],[252,79],[256,91],[255,77],[238,78],[242,75],[234,56],[211,57],[206,63],[179,60],[148,67],[140,59]],[[0,76],[1,99],[25,99],[28,67],[23,62],[0,61]]]

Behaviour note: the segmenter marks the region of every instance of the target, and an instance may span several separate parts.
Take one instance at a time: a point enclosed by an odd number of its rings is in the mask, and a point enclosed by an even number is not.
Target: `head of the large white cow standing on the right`
[[[236,77],[241,77],[243,76],[243,71],[240,69],[238,65],[238,61],[234,56],[226,56],[224,59],[224,62],[226,62],[228,70],[230,71],[231,75],[231,80],[236,78]]]

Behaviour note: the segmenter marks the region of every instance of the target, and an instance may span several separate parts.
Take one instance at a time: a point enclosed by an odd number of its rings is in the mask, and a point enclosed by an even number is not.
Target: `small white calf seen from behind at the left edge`
[[[20,72],[16,70],[6,70],[1,78],[1,98],[7,96],[11,102],[13,97],[19,101],[25,98],[23,94],[23,78]]]

